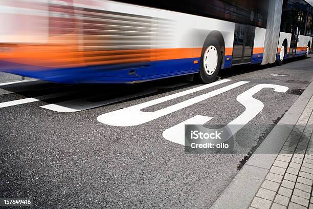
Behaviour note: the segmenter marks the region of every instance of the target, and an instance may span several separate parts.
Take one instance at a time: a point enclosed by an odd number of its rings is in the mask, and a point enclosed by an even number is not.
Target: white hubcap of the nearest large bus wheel
[[[203,56],[203,67],[208,75],[212,75],[217,67],[218,55],[214,46],[209,46]]]

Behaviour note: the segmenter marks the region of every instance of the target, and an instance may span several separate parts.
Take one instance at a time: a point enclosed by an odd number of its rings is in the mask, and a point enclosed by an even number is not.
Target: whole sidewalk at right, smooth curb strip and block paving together
[[[211,208],[313,209],[312,95],[313,82]]]

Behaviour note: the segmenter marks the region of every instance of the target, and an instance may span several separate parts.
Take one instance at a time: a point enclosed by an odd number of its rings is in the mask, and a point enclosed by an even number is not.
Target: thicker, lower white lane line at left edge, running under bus
[[[13,101],[6,101],[6,102],[1,102],[0,103],[0,108],[5,108],[5,107],[10,107],[10,106],[15,106],[15,105],[21,105],[25,103],[30,103],[30,102],[35,102],[39,100],[44,100],[44,99],[51,99],[51,98],[56,98],[60,96],[66,96],[69,95],[73,92],[62,92],[62,93],[56,93],[56,94],[48,94],[48,95],[43,95],[43,96],[36,96],[36,97],[30,97],[30,98],[25,98],[25,99],[17,99]]]

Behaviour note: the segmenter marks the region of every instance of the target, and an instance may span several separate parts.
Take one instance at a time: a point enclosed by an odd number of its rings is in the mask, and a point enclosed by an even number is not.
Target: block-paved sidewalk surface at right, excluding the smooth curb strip
[[[313,97],[288,136],[249,208],[312,208]]]

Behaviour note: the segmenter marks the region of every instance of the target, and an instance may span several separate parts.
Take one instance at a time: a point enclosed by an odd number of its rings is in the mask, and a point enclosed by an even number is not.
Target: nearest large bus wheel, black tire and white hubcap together
[[[213,82],[221,65],[221,50],[217,40],[206,41],[200,59],[200,71],[196,76],[200,82]]]

